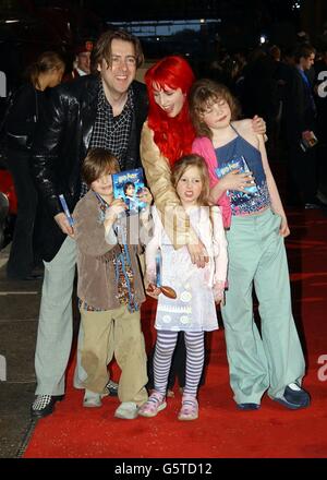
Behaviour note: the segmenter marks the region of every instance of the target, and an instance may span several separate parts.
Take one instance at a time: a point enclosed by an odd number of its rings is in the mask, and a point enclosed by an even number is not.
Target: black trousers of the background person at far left
[[[35,265],[33,238],[37,191],[31,173],[29,153],[7,149],[5,154],[17,196],[17,218],[7,264],[7,276],[19,279],[29,275]]]

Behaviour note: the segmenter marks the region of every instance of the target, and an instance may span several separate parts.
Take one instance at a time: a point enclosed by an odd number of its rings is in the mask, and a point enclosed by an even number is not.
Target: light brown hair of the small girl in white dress
[[[181,158],[179,158],[171,170],[171,182],[174,188],[177,188],[177,184],[179,180],[182,178],[184,172],[190,167],[197,167],[199,170],[199,177],[202,181],[202,192],[197,200],[198,205],[209,205],[209,172],[207,165],[205,163],[205,159],[197,154],[190,154],[190,155],[183,155]]]

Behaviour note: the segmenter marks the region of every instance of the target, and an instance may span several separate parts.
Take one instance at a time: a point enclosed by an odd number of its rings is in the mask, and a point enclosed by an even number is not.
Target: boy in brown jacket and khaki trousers
[[[138,267],[138,218],[149,225],[152,195],[143,190],[147,208],[140,217],[126,217],[125,203],[113,199],[112,173],[120,170],[117,159],[104,148],[88,152],[82,175],[89,191],[80,200],[74,213],[74,238],[77,244],[77,296],[84,329],[82,365],[84,407],[100,407],[108,382],[107,365],[114,355],[121,369],[114,416],[137,417],[147,399],[145,385],[146,352],[141,329],[140,307],[145,300]],[[132,237],[137,244],[133,244]],[[132,239],[132,241],[131,241]],[[129,244],[128,244],[129,243]]]

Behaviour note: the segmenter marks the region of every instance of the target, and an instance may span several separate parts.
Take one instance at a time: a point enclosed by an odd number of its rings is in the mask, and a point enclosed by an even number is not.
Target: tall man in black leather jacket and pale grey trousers
[[[59,194],[72,212],[86,193],[81,166],[89,148],[108,149],[121,170],[141,167],[140,136],[147,96],[135,74],[142,62],[136,37],[123,31],[104,33],[93,49],[93,74],[55,88],[38,124],[32,163],[43,204],[45,278],[33,417],[50,415],[62,398],[72,344],[76,247],[74,228],[62,211]]]

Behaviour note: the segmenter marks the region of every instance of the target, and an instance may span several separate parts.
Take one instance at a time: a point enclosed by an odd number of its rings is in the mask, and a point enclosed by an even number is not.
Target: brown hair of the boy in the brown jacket
[[[102,175],[120,171],[118,159],[105,148],[90,148],[82,166],[82,178],[87,187]]]

